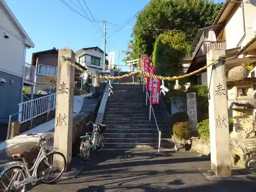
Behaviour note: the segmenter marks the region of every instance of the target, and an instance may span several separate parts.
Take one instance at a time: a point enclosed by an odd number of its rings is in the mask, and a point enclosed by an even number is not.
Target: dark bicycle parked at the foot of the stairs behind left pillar
[[[87,127],[89,125],[89,133],[80,137],[82,139],[80,143],[80,157],[83,161],[89,159],[90,151],[100,152],[105,144],[105,137],[102,133],[105,132],[106,125],[99,123],[94,124],[92,121],[87,123]]]

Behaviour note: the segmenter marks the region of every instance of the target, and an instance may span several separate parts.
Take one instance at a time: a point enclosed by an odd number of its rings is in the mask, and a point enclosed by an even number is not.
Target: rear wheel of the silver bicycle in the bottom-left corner
[[[26,185],[22,185],[17,188],[18,182],[25,180],[27,174],[24,169],[20,166],[13,166],[8,168],[0,178],[0,191],[17,191],[25,192]]]

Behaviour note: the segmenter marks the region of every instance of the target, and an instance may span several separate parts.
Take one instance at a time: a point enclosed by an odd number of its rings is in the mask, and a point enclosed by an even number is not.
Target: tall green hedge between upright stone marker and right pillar
[[[208,88],[204,85],[195,85],[187,89],[187,92],[194,92],[197,95],[197,119],[199,122],[209,117]]]

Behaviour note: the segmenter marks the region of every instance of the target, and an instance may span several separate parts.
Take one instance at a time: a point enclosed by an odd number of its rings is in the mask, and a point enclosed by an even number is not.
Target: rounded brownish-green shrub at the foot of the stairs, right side
[[[186,112],[175,113],[170,117],[173,133],[180,139],[189,139],[191,131],[189,127],[188,115]]]

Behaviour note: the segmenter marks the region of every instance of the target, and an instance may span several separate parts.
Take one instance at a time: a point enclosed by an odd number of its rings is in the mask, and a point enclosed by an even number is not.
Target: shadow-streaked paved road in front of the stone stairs
[[[199,169],[209,168],[196,153],[157,150],[103,151],[91,163],[73,162],[82,171],[74,179],[38,185],[30,192],[50,191],[255,191],[252,181],[208,180]],[[247,177],[247,176],[246,176]],[[249,176],[248,176],[249,177]],[[241,179],[242,180],[242,179]]]

